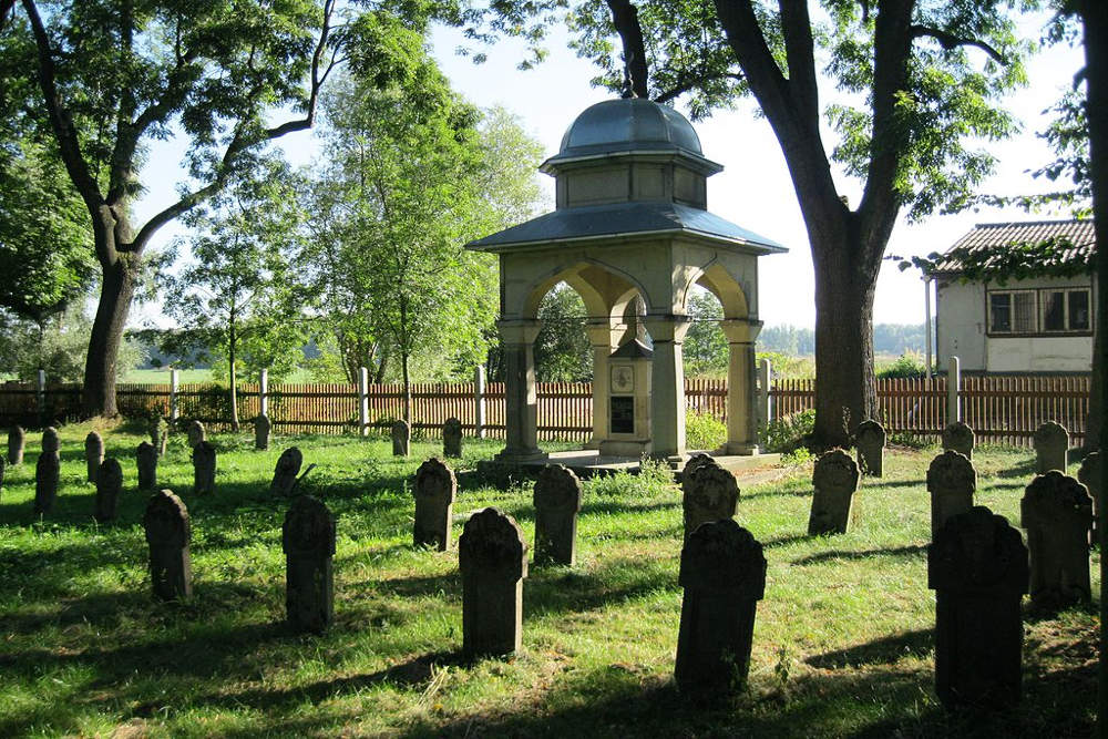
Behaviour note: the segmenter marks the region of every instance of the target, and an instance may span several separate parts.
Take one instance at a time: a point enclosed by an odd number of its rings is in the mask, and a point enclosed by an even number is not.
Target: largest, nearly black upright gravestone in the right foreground
[[[935,591],[935,691],[948,708],[1019,701],[1027,548],[984,506],[947,519],[927,547]]]

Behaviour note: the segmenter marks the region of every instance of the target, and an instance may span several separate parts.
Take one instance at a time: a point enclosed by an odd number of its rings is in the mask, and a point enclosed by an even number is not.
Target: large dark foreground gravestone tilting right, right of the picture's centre
[[[681,692],[711,698],[741,689],[750,669],[766,557],[732,519],[697,526],[681,548],[685,588],[674,677]]]

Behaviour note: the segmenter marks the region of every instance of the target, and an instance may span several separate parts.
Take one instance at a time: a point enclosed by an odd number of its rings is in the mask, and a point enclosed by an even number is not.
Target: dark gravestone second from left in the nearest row
[[[285,609],[296,632],[326,629],[335,617],[335,516],[310,495],[297,495],[281,528]]]

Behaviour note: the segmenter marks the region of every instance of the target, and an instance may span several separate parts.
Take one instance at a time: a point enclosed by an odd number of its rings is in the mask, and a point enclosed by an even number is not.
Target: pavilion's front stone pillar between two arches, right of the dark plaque
[[[685,456],[685,368],[681,343],[691,321],[687,316],[647,316],[654,342],[650,368],[650,456],[680,463]]]

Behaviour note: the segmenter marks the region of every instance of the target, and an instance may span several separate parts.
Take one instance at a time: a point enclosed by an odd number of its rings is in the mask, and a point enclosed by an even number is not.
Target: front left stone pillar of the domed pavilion
[[[511,463],[545,460],[538,449],[538,397],[532,349],[542,324],[517,319],[496,322],[504,348],[505,445],[496,461]]]

